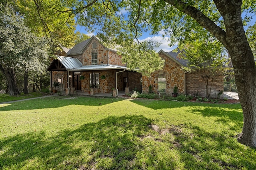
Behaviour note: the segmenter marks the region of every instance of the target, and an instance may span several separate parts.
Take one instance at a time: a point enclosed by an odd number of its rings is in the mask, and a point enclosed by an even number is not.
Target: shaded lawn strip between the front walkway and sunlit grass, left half
[[[124,98],[95,98],[86,96],[56,96],[49,98],[26,100],[6,104],[7,106],[0,107],[1,111],[8,110],[29,110],[29,109],[46,109],[58,108],[69,105],[83,106],[103,106],[113,102],[125,100]]]

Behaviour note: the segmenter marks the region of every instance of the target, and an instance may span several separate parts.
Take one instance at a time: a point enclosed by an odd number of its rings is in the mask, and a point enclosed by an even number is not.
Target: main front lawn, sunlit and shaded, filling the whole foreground
[[[1,104],[0,169],[256,169],[256,150],[234,138],[242,124],[240,104],[82,96]]]

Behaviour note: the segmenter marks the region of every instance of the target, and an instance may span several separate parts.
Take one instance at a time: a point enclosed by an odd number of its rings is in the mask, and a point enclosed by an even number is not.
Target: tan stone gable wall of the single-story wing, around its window
[[[180,64],[163,53],[160,53],[159,56],[164,59],[165,65],[162,70],[153,72],[150,77],[142,76],[142,92],[148,93],[151,85],[152,91],[158,93],[158,76],[164,74],[166,77],[166,95],[171,96],[175,86],[178,87],[178,94],[185,94],[184,71],[181,70]]]

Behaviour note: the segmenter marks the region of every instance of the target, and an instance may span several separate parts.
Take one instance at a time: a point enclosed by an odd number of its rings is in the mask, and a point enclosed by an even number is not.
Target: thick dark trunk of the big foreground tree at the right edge
[[[256,66],[254,56],[247,41],[242,17],[242,1],[236,4],[216,6],[222,12],[226,25],[226,49],[230,53],[239,100],[244,113],[244,126],[238,135],[238,141],[250,147],[256,147]],[[229,14],[229,15],[228,15]]]

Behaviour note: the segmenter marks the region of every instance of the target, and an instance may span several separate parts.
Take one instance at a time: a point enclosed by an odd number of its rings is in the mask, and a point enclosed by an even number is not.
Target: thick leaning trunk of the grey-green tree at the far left
[[[9,83],[9,95],[16,96],[20,94],[20,91],[17,88],[16,79],[14,75],[14,70],[12,68],[3,68],[0,65],[0,70],[6,76],[8,83]]]

